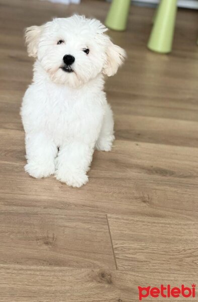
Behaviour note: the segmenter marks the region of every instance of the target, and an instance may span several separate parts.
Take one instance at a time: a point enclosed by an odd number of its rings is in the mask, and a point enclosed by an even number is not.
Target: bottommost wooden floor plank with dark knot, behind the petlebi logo
[[[137,302],[138,286],[182,282],[191,286],[195,279],[197,275],[0,265],[1,302]],[[145,300],[152,302],[153,298]],[[174,298],[181,300],[185,299]],[[163,302],[164,298],[157,301]]]

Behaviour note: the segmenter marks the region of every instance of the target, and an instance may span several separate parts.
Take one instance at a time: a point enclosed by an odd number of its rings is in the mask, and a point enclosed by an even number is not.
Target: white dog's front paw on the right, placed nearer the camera
[[[68,186],[79,188],[87,183],[88,176],[81,171],[61,172],[57,170],[56,179],[66,183]]]

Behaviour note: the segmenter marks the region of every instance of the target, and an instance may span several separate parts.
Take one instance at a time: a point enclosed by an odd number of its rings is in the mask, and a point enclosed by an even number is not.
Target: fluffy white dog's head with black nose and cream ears
[[[53,82],[78,87],[103,72],[114,75],[125,51],[98,20],[74,15],[26,29],[29,56],[37,57]]]

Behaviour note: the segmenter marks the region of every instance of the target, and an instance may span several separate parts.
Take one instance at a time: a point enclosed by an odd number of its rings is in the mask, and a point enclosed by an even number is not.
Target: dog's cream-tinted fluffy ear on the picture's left
[[[41,26],[31,26],[26,28],[25,39],[28,47],[29,56],[33,56],[33,57],[37,56],[40,34],[41,34]]]

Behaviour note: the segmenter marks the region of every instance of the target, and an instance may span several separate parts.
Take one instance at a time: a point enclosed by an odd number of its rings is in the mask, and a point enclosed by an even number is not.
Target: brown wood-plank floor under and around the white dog
[[[198,281],[197,12],[179,10],[170,55],[146,48],[153,9],[110,31],[128,60],[106,84],[115,146],[95,152],[88,184],[24,172],[24,28],[74,12],[104,21],[108,8],[0,0],[1,302],[137,302],[138,286]]]

